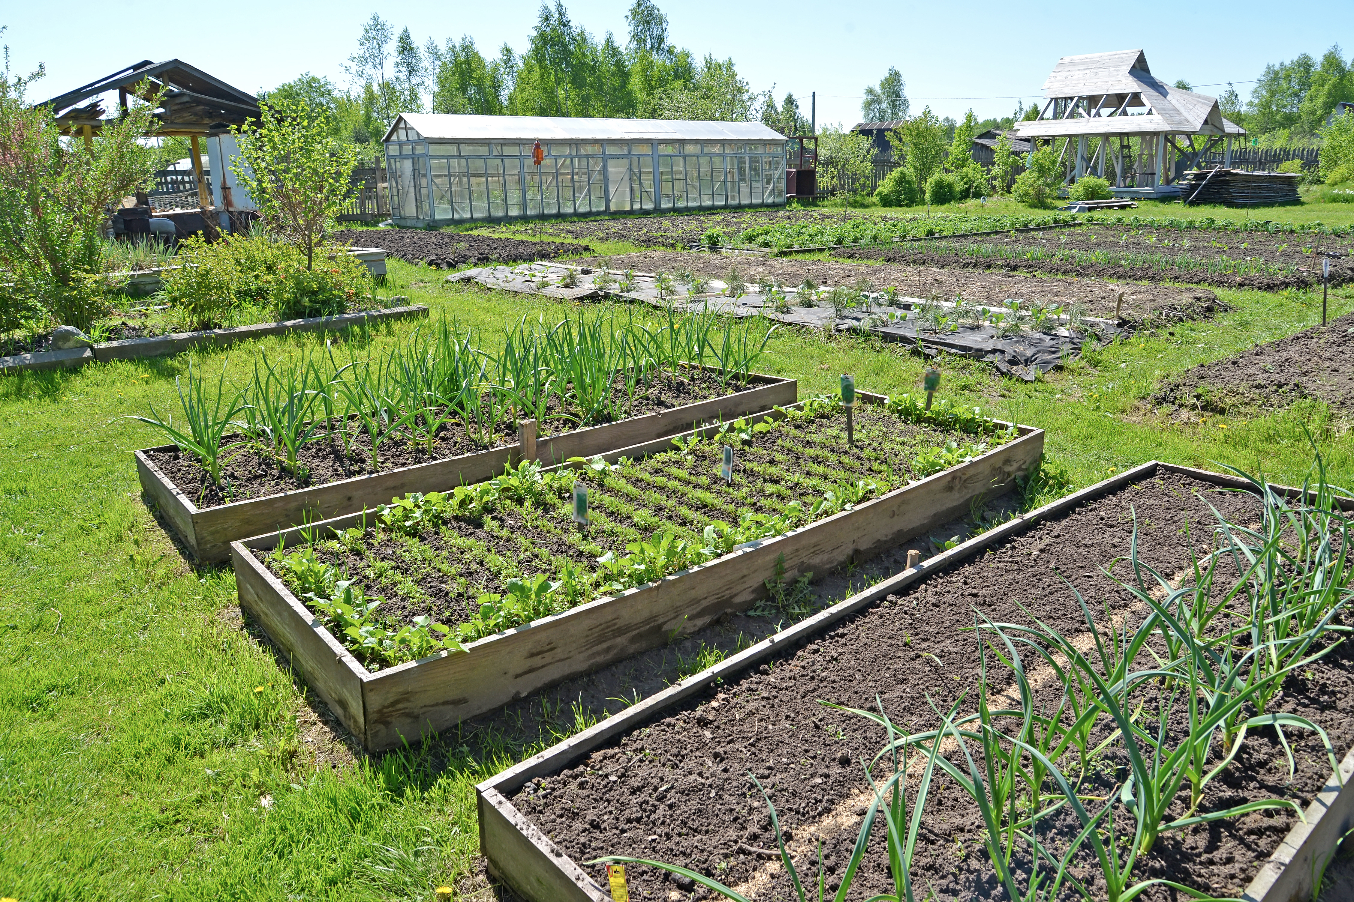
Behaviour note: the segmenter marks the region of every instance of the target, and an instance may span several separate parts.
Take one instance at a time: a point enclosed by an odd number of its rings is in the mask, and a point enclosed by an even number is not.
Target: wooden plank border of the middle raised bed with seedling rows
[[[884,402],[879,395],[862,394],[861,399],[872,404]],[[766,411],[766,415],[784,414]],[[716,429],[711,425],[685,434],[707,435]],[[366,749],[391,748],[745,610],[766,594],[765,579],[781,557],[785,577],[793,579],[934,529],[963,515],[975,498],[1007,491],[1017,476],[1039,464],[1043,430],[1018,429],[1018,438],[942,473],[784,536],[746,542],[730,554],[654,583],[471,642],[464,653],[440,653],[376,673],[347,657],[345,665],[362,688],[362,711],[344,722]],[[669,437],[608,452],[605,457],[643,457],[670,448]],[[275,641],[286,646],[295,636],[305,634],[303,627],[309,629],[314,618],[279,580],[261,577],[267,568],[256,552],[276,548],[279,542],[299,542],[303,531],[321,536],[341,531],[363,522],[368,513],[232,542],[237,573],[252,579],[248,594],[241,588],[241,604],[256,614],[256,607],[269,607],[260,621],[288,621],[284,629],[269,630]],[[334,713],[344,719],[344,709]]]

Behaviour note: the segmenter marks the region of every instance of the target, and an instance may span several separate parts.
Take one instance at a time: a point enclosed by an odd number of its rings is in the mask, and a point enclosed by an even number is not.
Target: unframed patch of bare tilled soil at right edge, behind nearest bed
[[[1273,411],[1303,398],[1354,412],[1354,314],[1196,366],[1156,400],[1231,417]]]

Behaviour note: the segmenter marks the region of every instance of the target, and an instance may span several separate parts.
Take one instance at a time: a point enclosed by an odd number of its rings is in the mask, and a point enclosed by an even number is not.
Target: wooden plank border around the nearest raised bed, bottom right
[[[1150,479],[1159,471],[1190,476],[1223,488],[1254,488],[1248,481],[1236,476],[1213,473],[1179,464],[1148,461],[975,536],[961,545],[936,554],[911,569],[891,576],[814,617],[800,621],[787,630],[762,640],[757,645],[726,657],[719,664],[700,673],[688,676],[662,692],[651,695],[577,736],[479,783],[475,787],[475,803],[479,815],[479,851],[487,859],[490,872],[529,902],[554,902],[554,899],[567,899],[569,902],[611,902],[611,894],[597,886],[575,861],[555,847],[529,818],[508,801],[508,797],[525,786],[528,780],[556,774],[617,736],[653,721],[668,709],[714,686],[716,679],[734,679],[738,673],[780,655],[783,648],[795,648],[796,645],[807,644],[812,637],[835,626],[852,614],[871,607],[880,599],[913,583],[921,581],[951,564],[972,557],[991,545],[1003,542],[1030,526],[1057,517],[1086,502],[1102,498],[1143,479]],[[1288,499],[1303,495],[1300,488],[1273,484],[1270,488]],[[1345,511],[1354,511],[1354,499],[1339,499],[1339,506]],[[1354,749],[1340,763],[1340,780],[1336,782],[1332,775],[1327,786],[1308,806],[1305,811],[1307,822],[1300,821],[1289,830],[1280,848],[1275,849],[1262,865],[1261,872],[1251,880],[1243,895],[1246,902],[1298,902],[1300,899],[1311,898],[1312,879],[1316,868],[1334,857],[1340,838],[1354,828],[1354,788],[1350,788],[1351,776],[1354,776]],[[510,829],[509,825],[519,826],[515,834],[505,836]],[[548,893],[540,891],[547,887]]]

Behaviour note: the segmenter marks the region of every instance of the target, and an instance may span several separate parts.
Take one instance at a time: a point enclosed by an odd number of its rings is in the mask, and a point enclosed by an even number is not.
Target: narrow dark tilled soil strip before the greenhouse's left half
[[[437,269],[464,265],[519,264],[532,260],[555,260],[592,252],[588,245],[562,241],[521,241],[455,231],[420,229],[345,229],[333,239],[341,245],[382,247],[405,262],[427,262]]]

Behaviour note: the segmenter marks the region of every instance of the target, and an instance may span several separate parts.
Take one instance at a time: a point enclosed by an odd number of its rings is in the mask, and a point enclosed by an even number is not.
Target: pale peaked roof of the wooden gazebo
[[[1136,95],[1136,96],[1135,96]],[[1017,122],[1021,138],[1114,134],[1242,135],[1246,130],[1223,118],[1217,99],[1171,87],[1152,74],[1141,50],[1114,50],[1063,57],[1044,81],[1047,99],[1097,99],[1101,114],[1078,110],[1064,119]],[[1110,112],[1121,110],[1121,115]],[[1129,114],[1143,110],[1145,115]]]

